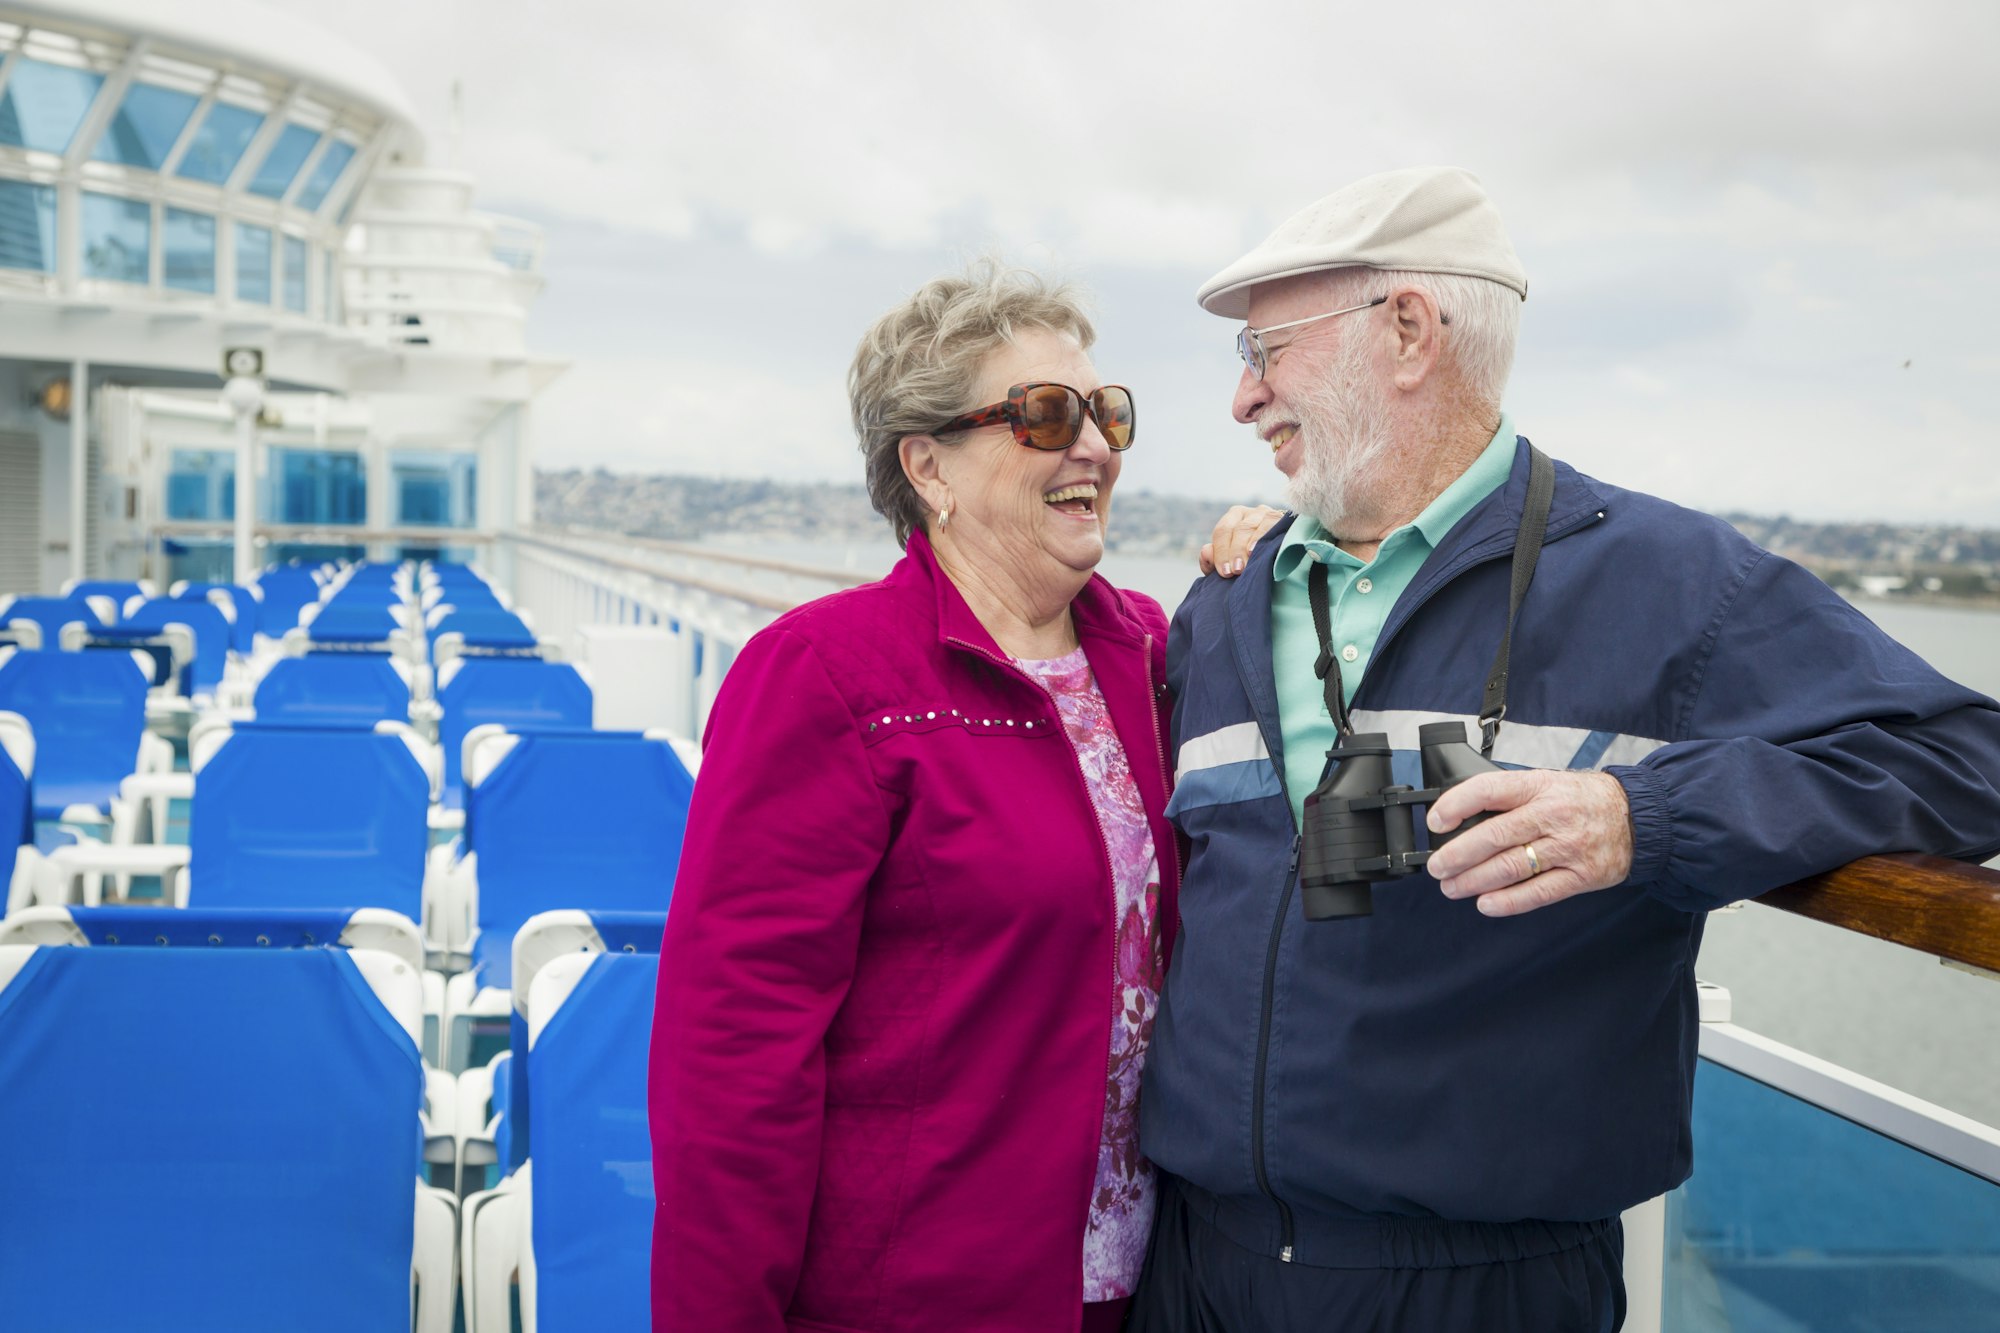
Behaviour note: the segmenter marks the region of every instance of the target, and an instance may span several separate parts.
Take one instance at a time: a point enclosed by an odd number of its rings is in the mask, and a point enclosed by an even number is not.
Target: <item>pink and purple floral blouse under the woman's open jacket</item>
[[[1160,1007],[1160,863],[1132,769],[1112,729],[1104,695],[1078,648],[1046,662],[1020,662],[1056,699],[1062,727],[1084,769],[1112,859],[1118,949],[1110,979],[1112,1047],[1104,1081],[1104,1135],[1084,1229],[1084,1301],[1116,1301],[1138,1287],[1152,1235],[1152,1163],[1138,1155],[1138,1077]]]

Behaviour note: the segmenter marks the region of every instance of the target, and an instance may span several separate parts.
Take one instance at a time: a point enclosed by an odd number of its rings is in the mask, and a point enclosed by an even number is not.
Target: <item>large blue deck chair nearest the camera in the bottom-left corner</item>
[[[0,1323],[450,1333],[420,969],[388,913],[0,923]]]

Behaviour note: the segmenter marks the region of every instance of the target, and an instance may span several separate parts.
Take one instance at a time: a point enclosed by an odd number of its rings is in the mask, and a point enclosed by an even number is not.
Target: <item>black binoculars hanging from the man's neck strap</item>
[[[1416,731],[1424,763],[1422,787],[1398,787],[1390,773],[1388,733],[1350,735],[1332,751],[1334,771],[1306,797],[1298,873],[1306,921],[1368,917],[1378,879],[1416,875],[1430,861],[1416,851],[1416,819],[1408,807],[1430,805],[1474,773],[1500,773],[1466,741],[1464,723],[1428,723]],[[1450,833],[1432,835],[1442,847],[1488,819],[1474,815]]]

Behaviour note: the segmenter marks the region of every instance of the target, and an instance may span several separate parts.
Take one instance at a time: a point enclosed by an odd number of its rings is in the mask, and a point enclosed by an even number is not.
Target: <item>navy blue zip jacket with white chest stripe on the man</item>
[[[1526,486],[1522,440],[1384,624],[1352,703],[1396,781],[1420,785],[1418,725],[1478,739]],[[1704,909],[1872,853],[2000,851],[1994,701],[1728,524],[1556,464],[1494,759],[1612,773],[1630,881],[1488,919],[1414,875],[1308,923],[1270,664],[1284,526],[1168,638],[1190,861],[1140,1113],[1146,1155],[1266,1253],[1314,1217],[1584,1221],[1672,1189]]]

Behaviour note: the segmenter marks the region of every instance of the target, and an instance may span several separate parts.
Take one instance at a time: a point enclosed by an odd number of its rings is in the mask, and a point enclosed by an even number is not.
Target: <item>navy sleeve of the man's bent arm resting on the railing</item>
[[[1878,853],[2000,851],[2000,707],[1790,560],[1734,578],[1674,743],[1610,769],[1632,881],[1702,911]]]

